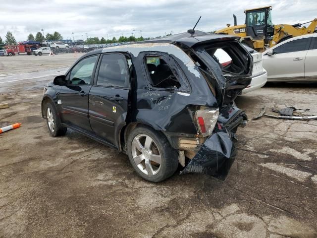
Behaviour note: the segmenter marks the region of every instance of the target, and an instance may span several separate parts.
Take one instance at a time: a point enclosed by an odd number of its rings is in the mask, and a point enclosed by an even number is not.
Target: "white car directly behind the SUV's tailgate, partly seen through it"
[[[245,89],[242,90],[242,94],[246,94],[264,86],[267,81],[267,72],[262,65],[263,60],[261,53],[246,45],[243,46],[250,52],[253,57],[252,81]],[[232,60],[230,56],[222,49],[218,49],[214,53],[214,56],[218,58],[219,63],[221,63],[223,66],[231,63]]]

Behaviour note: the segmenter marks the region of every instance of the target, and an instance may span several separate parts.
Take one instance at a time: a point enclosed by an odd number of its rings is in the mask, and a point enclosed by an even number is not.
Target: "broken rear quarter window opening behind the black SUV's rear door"
[[[180,88],[180,83],[168,64],[160,57],[146,57],[151,85],[156,88]]]

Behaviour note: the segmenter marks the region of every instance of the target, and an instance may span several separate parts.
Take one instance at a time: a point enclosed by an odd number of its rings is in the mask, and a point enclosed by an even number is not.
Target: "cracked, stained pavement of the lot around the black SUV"
[[[78,57],[0,57],[0,103],[10,105],[0,127],[22,123],[0,134],[0,237],[317,237],[317,120],[249,120],[225,181],[150,183],[115,149],[49,135],[43,86]],[[264,106],[317,115],[317,84],[269,84],[236,103],[250,119]]]

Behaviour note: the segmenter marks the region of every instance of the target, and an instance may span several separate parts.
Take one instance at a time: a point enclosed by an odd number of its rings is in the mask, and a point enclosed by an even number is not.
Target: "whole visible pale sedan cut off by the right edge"
[[[267,81],[317,81],[317,34],[288,39],[262,55]]]

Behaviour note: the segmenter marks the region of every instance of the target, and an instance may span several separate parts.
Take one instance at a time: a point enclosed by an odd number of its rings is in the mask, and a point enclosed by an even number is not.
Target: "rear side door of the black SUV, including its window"
[[[94,133],[116,147],[128,112],[130,76],[123,54],[102,55],[89,93],[89,120]]]

